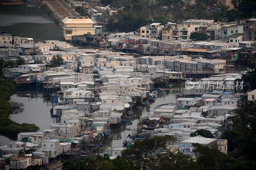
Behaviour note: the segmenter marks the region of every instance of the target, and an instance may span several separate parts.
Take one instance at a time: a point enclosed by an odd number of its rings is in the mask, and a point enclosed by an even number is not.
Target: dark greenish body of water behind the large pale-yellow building
[[[63,40],[60,26],[37,4],[0,5],[0,31],[34,40]]]

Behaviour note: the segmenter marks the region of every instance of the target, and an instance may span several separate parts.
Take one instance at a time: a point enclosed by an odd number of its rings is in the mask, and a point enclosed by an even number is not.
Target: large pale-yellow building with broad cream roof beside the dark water
[[[94,22],[89,17],[66,17],[62,20],[65,40],[71,40],[71,36],[83,35],[90,32],[95,34]]]

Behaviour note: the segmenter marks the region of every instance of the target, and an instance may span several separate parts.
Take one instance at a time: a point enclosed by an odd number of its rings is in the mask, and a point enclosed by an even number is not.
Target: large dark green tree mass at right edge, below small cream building
[[[232,130],[225,131],[221,138],[230,142],[229,151],[236,149],[239,157],[256,160],[256,101],[248,101],[233,112],[234,115],[228,117]]]

